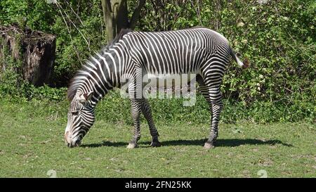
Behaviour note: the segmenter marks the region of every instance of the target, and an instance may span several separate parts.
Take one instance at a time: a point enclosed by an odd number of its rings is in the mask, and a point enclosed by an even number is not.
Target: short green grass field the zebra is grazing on
[[[66,113],[56,103],[0,101],[0,177],[316,177],[315,124],[222,123],[206,151],[209,120],[157,124],[160,148],[149,147],[143,123],[140,147],[129,150],[133,128],[98,118],[81,147],[67,148]]]

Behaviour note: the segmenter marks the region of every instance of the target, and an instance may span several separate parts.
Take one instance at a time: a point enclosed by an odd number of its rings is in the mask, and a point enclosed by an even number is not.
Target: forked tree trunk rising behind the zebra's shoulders
[[[139,0],[131,20],[127,10],[127,0],[101,0],[103,8],[103,17],[107,31],[107,42],[110,42],[123,28],[136,27],[140,10],[145,4],[145,0]]]

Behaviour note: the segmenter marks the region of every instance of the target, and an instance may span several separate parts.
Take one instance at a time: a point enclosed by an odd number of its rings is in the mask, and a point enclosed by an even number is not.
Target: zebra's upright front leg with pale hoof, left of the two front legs
[[[142,99],[131,99],[131,115],[133,117],[134,134],[127,148],[136,148],[137,141],[140,139],[140,107]]]

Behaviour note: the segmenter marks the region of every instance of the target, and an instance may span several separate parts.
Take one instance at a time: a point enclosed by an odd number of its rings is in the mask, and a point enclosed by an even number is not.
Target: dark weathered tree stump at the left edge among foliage
[[[27,82],[35,86],[51,83],[56,47],[56,37],[53,34],[32,31],[27,27],[21,30],[17,26],[0,26],[0,34],[2,71],[6,71],[5,58],[9,55],[15,62],[22,63],[15,72],[22,73]]]

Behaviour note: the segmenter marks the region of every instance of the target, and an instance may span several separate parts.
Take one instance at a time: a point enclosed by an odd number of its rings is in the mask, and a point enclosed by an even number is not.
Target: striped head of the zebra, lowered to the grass
[[[81,139],[84,138],[95,120],[94,107],[89,102],[92,95],[93,91],[90,91],[88,94],[77,93],[72,98],[64,136],[65,143],[69,147],[81,144]]]

